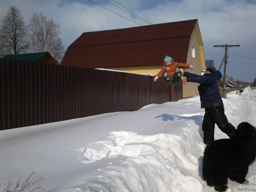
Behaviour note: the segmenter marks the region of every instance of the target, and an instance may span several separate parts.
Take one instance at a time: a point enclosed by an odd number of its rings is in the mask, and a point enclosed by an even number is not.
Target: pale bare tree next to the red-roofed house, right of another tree
[[[29,24],[33,52],[49,52],[59,63],[64,56],[60,26],[42,13],[34,13]]]

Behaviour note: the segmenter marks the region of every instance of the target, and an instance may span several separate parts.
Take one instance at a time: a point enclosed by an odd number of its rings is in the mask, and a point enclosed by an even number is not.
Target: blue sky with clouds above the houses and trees
[[[112,4],[152,24],[198,19],[206,60],[218,69],[225,50],[213,46],[240,44],[228,49],[227,74],[247,82],[256,78],[256,0],[1,0],[0,18],[10,6],[20,10],[26,24],[42,12],[60,24],[66,48],[83,32],[148,25]]]

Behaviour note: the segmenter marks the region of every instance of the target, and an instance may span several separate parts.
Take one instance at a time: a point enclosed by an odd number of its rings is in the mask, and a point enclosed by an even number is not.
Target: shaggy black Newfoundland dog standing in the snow
[[[202,174],[209,186],[224,192],[228,178],[238,183],[246,181],[248,167],[256,156],[256,129],[247,122],[238,125],[236,136],[220,139],[206,146]]]

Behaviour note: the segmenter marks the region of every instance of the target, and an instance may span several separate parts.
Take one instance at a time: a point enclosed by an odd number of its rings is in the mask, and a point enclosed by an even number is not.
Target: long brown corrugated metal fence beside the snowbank
[[[152,76],[0,59],[0,130],[176,101],[177,87]]]

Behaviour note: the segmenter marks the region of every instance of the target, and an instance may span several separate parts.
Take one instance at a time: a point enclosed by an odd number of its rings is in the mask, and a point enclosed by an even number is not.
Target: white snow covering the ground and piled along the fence
[[[223,99],[229,122],[256,126],[256,90]],[[31,172],[48,192],[212,192],[202,180],[199,96],[0,131],[0,191]],[[227,138],[216,126],[215,139]],[[256,164],[247,178],[256,175]],[[238,183],[229,181],[235,188]]]

